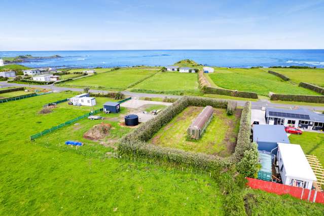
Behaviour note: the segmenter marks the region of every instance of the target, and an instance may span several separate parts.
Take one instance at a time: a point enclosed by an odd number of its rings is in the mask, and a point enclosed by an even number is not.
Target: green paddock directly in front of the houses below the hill
[[[155,91],[197,90],[198,78],[195,73],[159,73],[133,88]]]

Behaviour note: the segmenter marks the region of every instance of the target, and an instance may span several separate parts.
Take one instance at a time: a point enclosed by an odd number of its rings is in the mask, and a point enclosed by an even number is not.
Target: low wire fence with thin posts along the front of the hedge
[[[125,155],[118,155],[117,153],[113,153],[113,157],[115,159],[119,160],[125,160],[125,161],[130,161],[130,162],[138,162],[138,163],[146,163],[150,165],[157,165],[157,166],[163,166],[171,169],[176,169],[181,172],[185,173],[191,173],[191,174],[199,174],[202,176],[210,177],[213,175],[213,171],[208,171],[204,169],[195,169],[193,167],[186,167],[186,166],[181,166],[177,164],[171,164],[169,162],[161,162],[158,160],[155,160],[153,158],[136,158],[136,157],[131,157],[131,156],[125,156]]]

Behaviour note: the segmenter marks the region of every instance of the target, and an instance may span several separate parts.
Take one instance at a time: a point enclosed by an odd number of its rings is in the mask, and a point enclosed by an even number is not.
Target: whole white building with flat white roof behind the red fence
[[[282,184],[311,190],[317,181],[300,145],[278,143],[277,161]]]

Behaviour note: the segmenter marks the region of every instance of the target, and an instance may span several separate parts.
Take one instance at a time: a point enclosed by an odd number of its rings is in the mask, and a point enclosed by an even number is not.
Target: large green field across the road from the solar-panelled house
[[[260,68],[215,68],[213,74],[208,75],[215,85],[238,91],[256,92],[268,96],[269,92],[278,94],[319,95],[318,93],[285,82],[279,77],[271,75]]]

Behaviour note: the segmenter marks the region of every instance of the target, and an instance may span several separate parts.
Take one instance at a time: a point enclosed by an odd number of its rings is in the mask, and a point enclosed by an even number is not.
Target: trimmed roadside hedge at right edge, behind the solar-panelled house
[[[298,101],[298,102],[309,102],[309,103],[324,103],[324,96],[272,94],[272,95],[270,95],[270,100]]]

